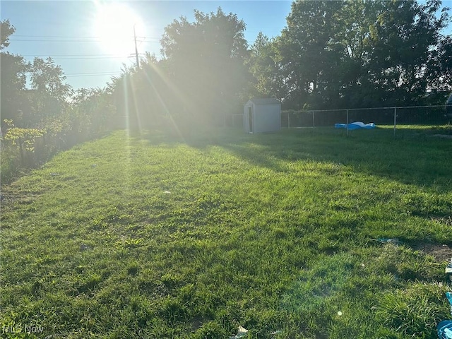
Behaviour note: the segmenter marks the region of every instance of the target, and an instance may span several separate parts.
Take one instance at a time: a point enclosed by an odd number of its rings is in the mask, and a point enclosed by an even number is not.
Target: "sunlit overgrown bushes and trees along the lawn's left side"
[[[1,22],[0,49],[15,32]],[[27,84],[27,78],[30,83]],[[111,88],[73,90],[52,58],[25,62],[1,52],[1,182],[42,165],[59,150],[112,128]]]

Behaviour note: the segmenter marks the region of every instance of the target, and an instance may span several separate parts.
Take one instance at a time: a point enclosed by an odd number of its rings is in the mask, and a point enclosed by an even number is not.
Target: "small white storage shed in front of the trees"
[[[281,129],[281,103],[277,99],[251,99],[244,105],[246,133],[275,132]]]

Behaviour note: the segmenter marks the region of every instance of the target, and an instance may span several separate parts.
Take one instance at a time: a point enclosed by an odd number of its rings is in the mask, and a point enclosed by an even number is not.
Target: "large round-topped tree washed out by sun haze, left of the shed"
[[[162,54],[181,111],[213,122],[239,102],[246,87],[245,23],[221,8],[194,16],[194,23],[182,17],[165,28]]]

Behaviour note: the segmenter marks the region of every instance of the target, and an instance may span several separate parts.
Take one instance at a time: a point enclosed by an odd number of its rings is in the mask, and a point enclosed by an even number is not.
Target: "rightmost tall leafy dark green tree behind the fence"
[[[424,97],[432,49],[439,44],[448,15],[441,1],[379,1],[371,25],[371,64],[368,72],[389,105],[413,105]],[[438,12],[441,12],[437,16]],[[377,87],[376,86],[376,87]]]

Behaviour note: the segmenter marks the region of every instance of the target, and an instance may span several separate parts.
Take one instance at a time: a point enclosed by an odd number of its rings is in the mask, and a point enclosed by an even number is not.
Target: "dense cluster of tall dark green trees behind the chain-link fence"
[[[439,0],[295,1],[277,43],[287,102],[420,103],[435,76],[448,79],[447,23]]]

